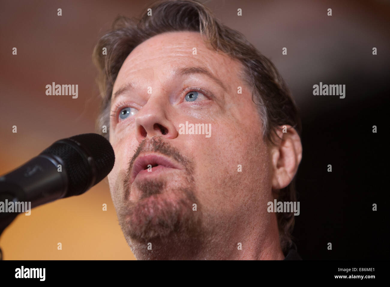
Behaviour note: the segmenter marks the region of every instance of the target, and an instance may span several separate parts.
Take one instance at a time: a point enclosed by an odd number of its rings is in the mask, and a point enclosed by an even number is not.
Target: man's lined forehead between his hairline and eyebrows
[[[196,52],[196,53],[195,53]],[[223,52],[207,46],[198,32],[166,32],[138,45],[123,62],[113,92],[129,76],[139,75],[145,80],[167,77],[167,72],[186,66],[204,66],[227,85],[236,82],[241,63]]]

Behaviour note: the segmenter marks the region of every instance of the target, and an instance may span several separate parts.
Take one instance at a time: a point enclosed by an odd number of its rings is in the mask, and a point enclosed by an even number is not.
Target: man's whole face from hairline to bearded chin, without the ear
[[[241,71],[197,32],[154,36],[124,61],[113,86],[108,180],[136,257],[148,242],[223,241],[252,219],[266,224],[269,155]],[[203,134],[191,134],[191,124],[204,124]]]

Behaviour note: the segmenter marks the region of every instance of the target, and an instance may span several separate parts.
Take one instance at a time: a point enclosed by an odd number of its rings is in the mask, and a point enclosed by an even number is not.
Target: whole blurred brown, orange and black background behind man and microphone
[[[0,2],[0,174],[57,139],[93,132],[99,106],[94,45],[117,15],[138,17],[152,2]],[[271,59],[300,109],[300,215],[293,235],[301,257],[388,259],[389,1],[200,2]],[[78,99],[46,96],[51,82],[78,84]],[[314,96],[319,82],[345,84],[346,97]],[[6,260],[134,259],[107,180],[81,196],[37,207],[32,216],[18,216],[0,246]]]

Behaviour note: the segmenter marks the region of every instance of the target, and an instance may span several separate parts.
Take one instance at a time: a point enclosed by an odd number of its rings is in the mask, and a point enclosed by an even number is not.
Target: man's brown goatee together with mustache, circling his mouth
[[[159,177],[134,182],[140,198],[137,201],[129,200],[129,194],[134,189],[134,186],[129,184],[129,174],[133,162],[141,152],[160,152],[167,155],[182,164],[186,174],[175,178]],[[193,162],[169,143],[163,142],[161,138],[144,139],[139,144],[129,162],[128,173],[123,183],[125,198],[117,208],[119,224],[128,244],[130,239],[146,244],[152,239],[169,240],[171,237],[184,239],[199,235],[200,212],[193,210],[194,203],[199,209],[193,170]],[[169,185],[172,181],[175,184]]]

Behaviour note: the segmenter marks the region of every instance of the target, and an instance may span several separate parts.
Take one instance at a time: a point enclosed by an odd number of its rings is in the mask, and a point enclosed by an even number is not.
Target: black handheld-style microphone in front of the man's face
[[[0,234],[16,217],[5,202],[31,202],[31,208],[85,193],[114,166],[112,146],[98,134],[60,139],[14,171],[0,177]],[[15,205],[16,206],[16,205]],[[5,225],[5,226],[4,226]]]

